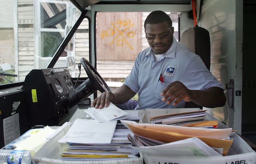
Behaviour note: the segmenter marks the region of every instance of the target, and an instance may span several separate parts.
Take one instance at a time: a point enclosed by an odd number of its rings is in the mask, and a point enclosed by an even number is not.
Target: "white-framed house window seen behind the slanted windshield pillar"
[[[75,23],[75,8],[68,0],[35,1],[35,67],[46,68],[67,31]],[[57,67],[65,66],[72,51],[63,51]]]

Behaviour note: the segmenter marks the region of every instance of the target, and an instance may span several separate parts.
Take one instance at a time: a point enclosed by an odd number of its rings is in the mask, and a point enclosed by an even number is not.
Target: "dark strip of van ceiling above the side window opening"
[[[93,4],[190,4],[191,0],[70,0],[79,10],[84,11]]]

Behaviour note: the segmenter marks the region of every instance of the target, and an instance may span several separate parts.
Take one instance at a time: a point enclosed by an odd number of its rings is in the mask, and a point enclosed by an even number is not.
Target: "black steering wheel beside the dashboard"
[[[102,77],[90,64],[90,62],[87,61],[87,59],[81,58],[80,62],[83,65],[84,70],[88,75],[88,78],[96,89],[98,89],[100,92],[111,91],[104,79],[102,79]]]

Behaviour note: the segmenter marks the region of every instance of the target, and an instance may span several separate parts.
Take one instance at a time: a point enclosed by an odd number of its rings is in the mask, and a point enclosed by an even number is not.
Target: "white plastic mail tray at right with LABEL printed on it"
[[[140,117],[140,123],[149,123],[149,118],[154,116],[162,116],[172,113],[183,113],[201,110],[199,108],[182,108],[182,109],[145,109]],[[207,114],[207,119],[216,120],[212,115]],[[222,122],[218,123],[219,128],[227,126]],[[247,144],[238,133],[231,133],[233,144],[227,153],[227,156],[221,157],[184,157],[175,158],[167,156],[152,156],[142,153],[145,164],[256,164],[256,152]]]

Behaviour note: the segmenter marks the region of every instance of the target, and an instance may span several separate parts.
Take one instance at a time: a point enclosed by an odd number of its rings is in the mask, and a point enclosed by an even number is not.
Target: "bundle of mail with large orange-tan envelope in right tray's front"
[[[197,128],[121,120],[133,134],[128,139],[134,149],[166,156],[226,156],[233,139],[232,128]],[[167,150],[168,151],[165,151]],[[218,152],[218,153],[216,153]]]

